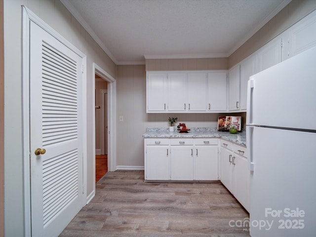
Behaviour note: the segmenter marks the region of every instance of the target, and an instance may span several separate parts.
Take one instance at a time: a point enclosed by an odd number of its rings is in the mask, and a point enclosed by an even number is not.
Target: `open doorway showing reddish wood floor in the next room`
[[[95,183],[108,171],[108,81],[95,75]]]

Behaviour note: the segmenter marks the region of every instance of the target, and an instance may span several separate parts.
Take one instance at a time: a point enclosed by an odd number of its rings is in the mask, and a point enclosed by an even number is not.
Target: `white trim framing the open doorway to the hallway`
[[[117,169],[117,88],[116,79],[109,73],[104,71],[96,63],[93,63],[92,77],[94,79],[92,85],[92,108],[93,108],[93,147],[95,148],[95,75],[98,75],[102,79],[108,81],[108,169],[109,171],[115,171]],[[110,116],[109,116],[110,115]],[[94,179],[94,191],[95,191],[95,149],[93,149],[93,179]]]

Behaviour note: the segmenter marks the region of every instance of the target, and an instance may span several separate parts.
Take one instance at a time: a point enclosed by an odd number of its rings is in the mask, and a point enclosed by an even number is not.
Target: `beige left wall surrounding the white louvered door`
[[[22,237],[23,150],[21,5],[86,54],[87,68],[87,195],[93,192],[93,63],[116,78],[116,65],[59,0],[4,0],[4,218],[5,236]],[[93,108],[92,108],[93,107]]]

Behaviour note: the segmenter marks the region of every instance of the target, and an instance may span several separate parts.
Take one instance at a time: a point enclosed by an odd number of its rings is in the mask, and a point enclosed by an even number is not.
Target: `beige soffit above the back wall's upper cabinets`
[[[228,58],[146,59],[146,71],[227,69]]]

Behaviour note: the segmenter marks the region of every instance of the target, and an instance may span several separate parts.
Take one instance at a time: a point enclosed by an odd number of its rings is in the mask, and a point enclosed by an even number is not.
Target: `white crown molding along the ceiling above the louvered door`
[[[103,49],[103,51],[112,59],[115,64],[118,64],[118,60],[113,56],[110,50],[103,44],[100,38],[94,33],[92,28],[88,25],[88,23],[82,18],[77,9],[70,3],[69,0],[60,0],[61,3],[70,11],[70,13],[79,21],[81,26],[89,33],[93,40],[97,42],[97,44]]]

